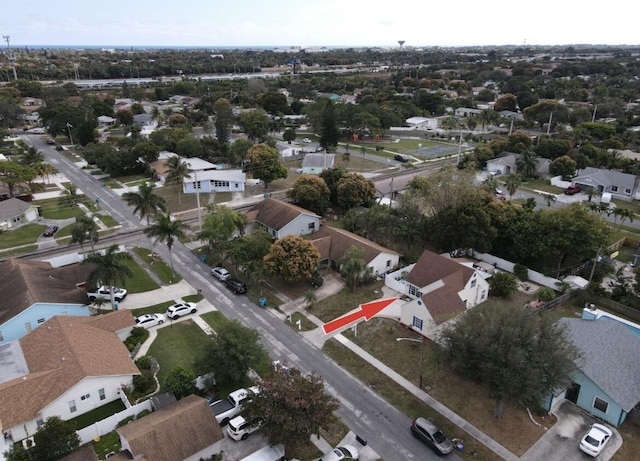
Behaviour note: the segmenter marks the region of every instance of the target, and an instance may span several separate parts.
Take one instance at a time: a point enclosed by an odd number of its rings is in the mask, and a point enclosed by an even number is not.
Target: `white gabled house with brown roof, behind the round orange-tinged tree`
[[[247,212],[247,232],[262,228],[273,238],[312,234],[320,228],[320,216],[291,203],[267,198]]]

